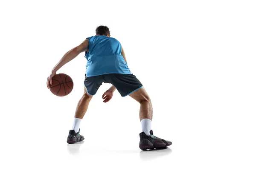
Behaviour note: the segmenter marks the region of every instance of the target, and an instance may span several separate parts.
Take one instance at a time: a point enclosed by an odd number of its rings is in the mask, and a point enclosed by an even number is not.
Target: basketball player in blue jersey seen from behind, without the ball
[[[67,62],[85,52],[87,59],[84,79],[84,94],[79,100],[72,130],[69,131],[67,143],[76,143],[84,140],[80,135],[80,123],[87,111],[90,100],[96,94],[102,82],[111,83],[112,86],[103,95],[103,102],[109,102],[113,92],[117,89],[122,97],[131,96],[140,103],[140,133],[139,147],[142,150],[167,147],[172,142],[160,139],[153,135],[151,120],[153,115],[151,100],[141,82],[131,73],[127,65],[125,51],[115,38],[110,37],[107,26],[96,28],[96,36],[88,37],[77,47],[68,51],[52,69],[47,78],[47,87],[52,84],[52,77],[56,71]]]

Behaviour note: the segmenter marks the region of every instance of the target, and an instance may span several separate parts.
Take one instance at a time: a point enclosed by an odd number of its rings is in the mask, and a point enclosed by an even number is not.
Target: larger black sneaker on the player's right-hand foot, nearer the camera
[[[160,147],[170,146],[172,142],[158,138],[153,135],[153,130],[150,130],[150,135],[146,135],[145,132],[140,133],[140,149],[154,149]]]

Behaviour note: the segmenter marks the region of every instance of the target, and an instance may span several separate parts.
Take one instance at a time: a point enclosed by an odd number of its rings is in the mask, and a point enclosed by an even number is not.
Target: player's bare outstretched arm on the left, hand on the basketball
[[[86,39],[80,45],[76,46],[75,48],[71,49],[66,54],[64,54],[61,60],[54,66],[54,68],[52,68],[52,72],[47,78],[47,87],[50,88],[50,84],[52,84],[52,77],[55,76],[58,69],[60,69],[63,65],[70,62],[72,59],[76,58],[81,52],[88,51],[88,49],[89,42],[88,39]]]

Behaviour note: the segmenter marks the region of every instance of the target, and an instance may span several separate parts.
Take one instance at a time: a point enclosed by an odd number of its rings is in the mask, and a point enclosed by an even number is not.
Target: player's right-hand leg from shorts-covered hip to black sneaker
[[[153,135],[151,130],[153,116],[151,100],[141,82],[133,74],[110,74],[106,75],[105,79],[116,87],[121,96],[129,95],[140,103],[140,121],[142,126],[140,149],[166,147],[172,144],[170,141]]]

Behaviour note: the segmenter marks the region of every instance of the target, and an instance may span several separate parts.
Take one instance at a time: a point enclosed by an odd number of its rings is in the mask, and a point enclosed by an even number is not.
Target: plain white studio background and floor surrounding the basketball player
[[[255,8],[253,0],[1,1],[1,169],[255,170]],[[66,144],[84,54],[57,72],[73,79],[68,96],[51,94],[47,76],[100,25],[121,42],[169,149],[139,149],[140,105],[117,91],[103,103],[109,84],[84,116],[84,142]]]

